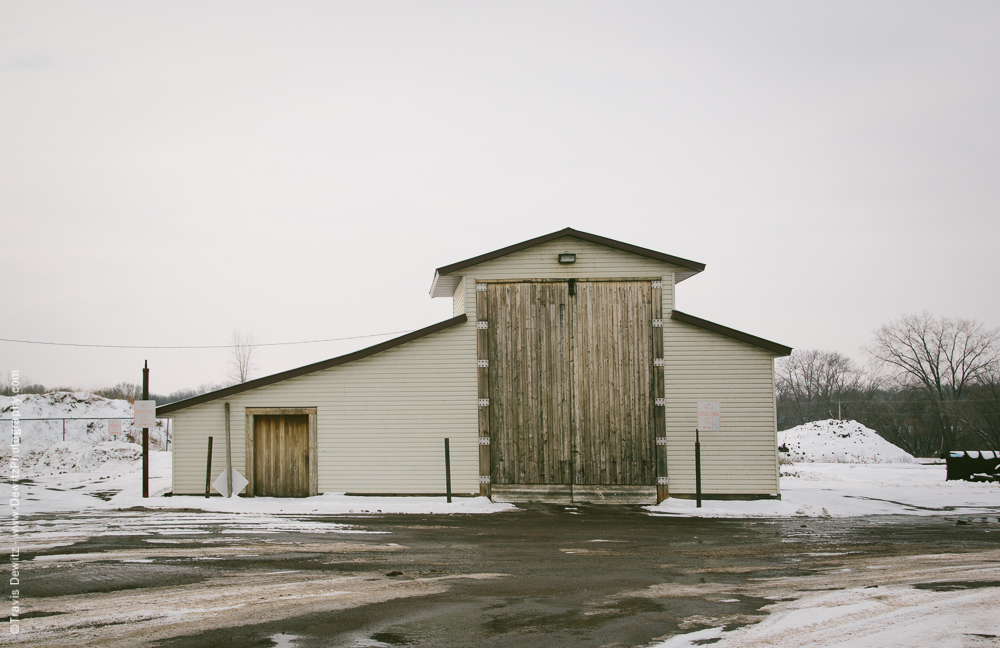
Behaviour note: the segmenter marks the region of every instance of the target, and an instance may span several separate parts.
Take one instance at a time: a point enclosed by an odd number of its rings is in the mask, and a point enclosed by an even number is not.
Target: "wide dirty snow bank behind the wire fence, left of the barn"
[[[25,477],[59,475],[71,472],[116,472],[133,469],[141,457],[141,448],[126,443],[131,429],[132,405],[88,392],[51,392],[26,394],[17,398],[0,396],[0,430],[11,433],[10,419],[18,405],[21,428],[21,474]],[[65,424],[62,420],[65,418]],[[55,419],[35,421],[24,419]],[[109,419],[122,420],[122,434],[111,435]],[[153,447],[162,443],[162,421],[150,432]],[[65,430],[65,432],[64,432]],[[65,435],[65,440],[64,440]],[[9,437],[5,437],[9,438]],[[0,461],[11,457],[9,443],[0,444]]]

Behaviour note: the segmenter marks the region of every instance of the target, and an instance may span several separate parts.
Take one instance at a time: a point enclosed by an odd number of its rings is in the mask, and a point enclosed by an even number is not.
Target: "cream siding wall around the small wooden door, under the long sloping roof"
[[[213,479],[225,466],[224,410],[232,407],[233,462],[245,473],[247,407],[316,407],[319,491],[443,493],[444,441],[452,489],[479,492],[475,323],[346,365],[299,376],[174,416],[173,489],[204,493],[207,438]]]

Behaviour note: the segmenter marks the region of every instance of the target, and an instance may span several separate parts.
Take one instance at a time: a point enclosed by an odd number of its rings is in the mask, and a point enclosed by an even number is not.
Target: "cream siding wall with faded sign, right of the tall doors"
[[[666,319],[667,472],[671,493],[694,493],[699,400],[722,402],[722,430],[701,435],[702,492],[776,494],[774,355]]]

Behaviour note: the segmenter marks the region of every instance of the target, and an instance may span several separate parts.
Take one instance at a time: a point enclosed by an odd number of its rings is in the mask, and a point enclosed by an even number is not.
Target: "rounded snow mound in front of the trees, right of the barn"
[[[913,455],[857,421],[813,421],[778,432],[778,447],[793,462],[913,463]]]

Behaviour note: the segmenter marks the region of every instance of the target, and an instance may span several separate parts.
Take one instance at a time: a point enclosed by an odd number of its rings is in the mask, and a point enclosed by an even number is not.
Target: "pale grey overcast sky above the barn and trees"
[[[996,2],[3,0],[0,337],[410,330],[451,316],[434,268],[567,226],[706,263],[678,308],[796,348],[998,326],[998,34]],[[81,388],[226,357],[0,342]]]

